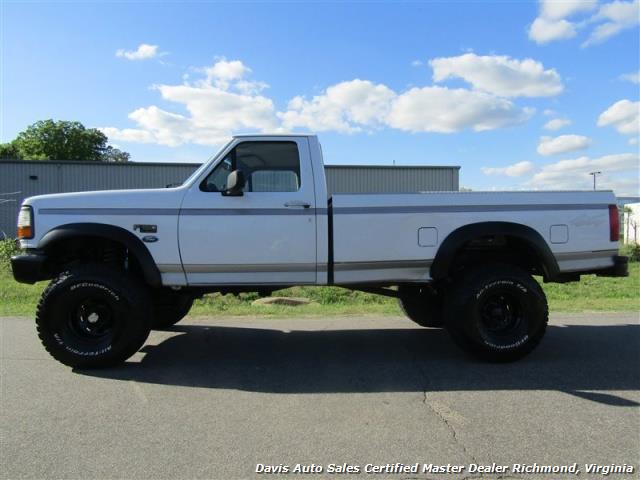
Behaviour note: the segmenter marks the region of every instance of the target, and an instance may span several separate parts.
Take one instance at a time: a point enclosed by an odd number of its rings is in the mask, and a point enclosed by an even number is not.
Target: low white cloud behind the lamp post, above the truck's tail
[[[598,189],[612,189],[618,195],[637,195],[638,161],[637,153],[560,160],[542,167],[528,185],[537,189],[590,189],[593,178],[589,172],[600,171]]]

